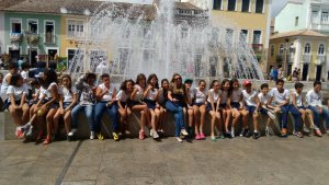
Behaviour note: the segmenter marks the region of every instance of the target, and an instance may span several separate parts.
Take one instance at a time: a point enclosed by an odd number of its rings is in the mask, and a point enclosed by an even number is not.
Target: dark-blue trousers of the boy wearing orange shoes
[[[302,115],[299,111],[292,104],[281,106],[282,111],[282,128],[286,128],[287,125],[287,114],[291,112],[295,120],[295,131],[299,131],[302,124]]]

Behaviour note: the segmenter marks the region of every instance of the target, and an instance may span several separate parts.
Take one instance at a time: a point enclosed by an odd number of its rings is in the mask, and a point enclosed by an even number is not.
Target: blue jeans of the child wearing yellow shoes
[[[94,122],[95,122],[95,131],[101,131],[101,119],[103,117],[104,111],[110,115],[113,124],[113,131],[118,130],[118,114],[115,105],[106,107],[107,102],[99,102],[94,106]]]

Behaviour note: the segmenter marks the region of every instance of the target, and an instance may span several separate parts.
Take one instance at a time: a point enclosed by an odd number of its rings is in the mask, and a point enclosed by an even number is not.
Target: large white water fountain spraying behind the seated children
[[[174,72],[185,78],[263,79],[253,50],[232,25],[213,26],[211,13],[178,22],[174,0],[152,5],[104,2],[89,22],[86,44],[69,61],[70,72],[95,71],[101,58],[121,79]]]

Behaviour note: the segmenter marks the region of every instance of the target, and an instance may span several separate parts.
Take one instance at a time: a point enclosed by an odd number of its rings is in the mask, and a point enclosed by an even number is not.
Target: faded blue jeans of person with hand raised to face
[[[93,120],[93,105],[79,105],[78,104],[77,106],[75,106],[71,112],[71,117],[72,117],[71,127],[78,128],[78,115],[81,111],[84,111],[86,117],[89,123],[90,130],[95,131],[95,124]]]

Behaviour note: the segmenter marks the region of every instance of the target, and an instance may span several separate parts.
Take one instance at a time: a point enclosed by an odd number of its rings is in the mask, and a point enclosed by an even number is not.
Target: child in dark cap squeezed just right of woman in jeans
[[[188,126],[188,131],[189,136],[192,137],[193,135],[193,116],[194,116],[194,111],[193,111],[193,99],[194,99],[194,93],[192,91],[192,79],[185,79],[184,81],[184,86],[185,86],[185,92],[186,92],[186,105],[184,107],[184,123],[189,123]]]

